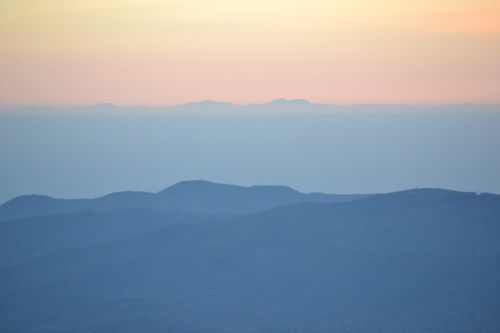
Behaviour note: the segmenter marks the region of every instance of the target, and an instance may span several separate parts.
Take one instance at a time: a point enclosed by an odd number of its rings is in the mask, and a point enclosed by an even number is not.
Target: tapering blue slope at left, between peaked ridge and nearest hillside
[[[128,239],[169,224],[191,223],[179,212],[145,209],[79,211],[33,216],[0,224],[0,269],[53,251]]]

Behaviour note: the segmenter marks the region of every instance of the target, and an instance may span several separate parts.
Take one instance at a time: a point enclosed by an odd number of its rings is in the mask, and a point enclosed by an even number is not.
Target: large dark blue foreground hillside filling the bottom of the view
[[[2,332],[500,331],[500,196],[75,214],[0,226]]]

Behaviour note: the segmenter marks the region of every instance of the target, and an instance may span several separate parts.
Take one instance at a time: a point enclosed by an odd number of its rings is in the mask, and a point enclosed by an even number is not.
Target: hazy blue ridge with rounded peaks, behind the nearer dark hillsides
[[[285,186],[217,184],[202,180],[184,181],[158,193],[126,191],[96,199],[54,199],[24,195],[0,205],[0,222],[38,215],[81,210],[150,209],[180,210],[194,214],[241,214],[298,202],[341,202],[362,197],[324,193],[301,193]]]

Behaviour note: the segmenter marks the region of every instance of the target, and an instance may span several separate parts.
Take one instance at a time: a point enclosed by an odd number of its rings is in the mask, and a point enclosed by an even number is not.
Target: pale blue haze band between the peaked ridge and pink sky
[[[500,193],[500,112],[0,112],[0,203],[188,179],[330,193]],[[369,108],[368,108],[369,110]]]

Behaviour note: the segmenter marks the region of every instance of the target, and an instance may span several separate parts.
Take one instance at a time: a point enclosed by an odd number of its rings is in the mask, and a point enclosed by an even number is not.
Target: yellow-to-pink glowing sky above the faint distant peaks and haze
[[[498,0],[2,0],[0,104],[500,101]]]

